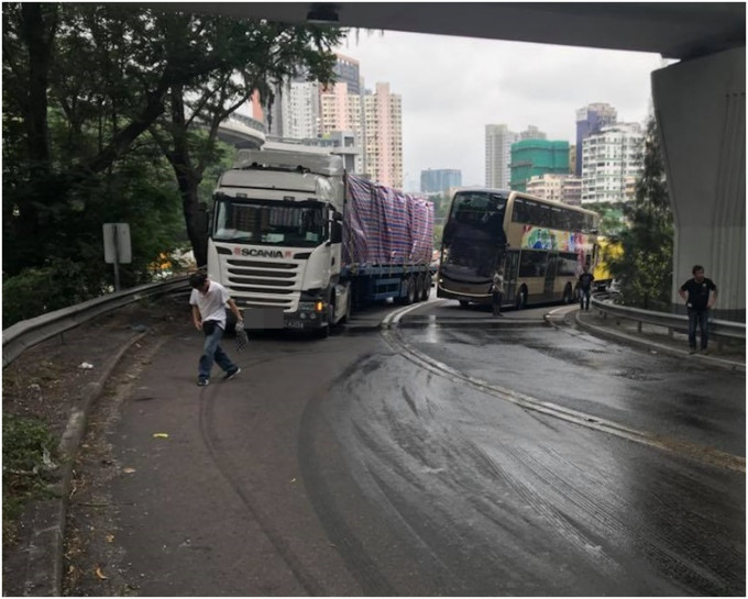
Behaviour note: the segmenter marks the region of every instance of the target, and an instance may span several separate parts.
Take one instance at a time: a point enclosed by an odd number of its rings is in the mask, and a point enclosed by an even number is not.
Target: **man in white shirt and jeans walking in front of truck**
[[[244,326],[242,314],[229,291],[220,282],[208,279],[204,273],[194,273],[189,277],[193,293],[189,303],[193,307],[193,322],[198,331],[206,335],[202,355],[198,365],[197,384],[206,387],[210,382],[210,370],[213,362],[226,373],[223,380],[234,378],[242,369],[237,366],[221,347],[221,339],[226,329],[226,307],[237,317],[237,326]]]

